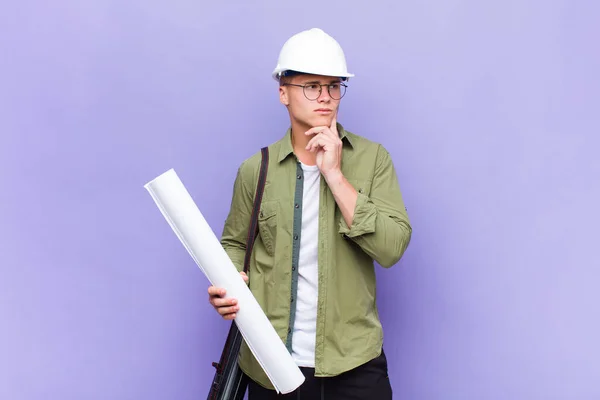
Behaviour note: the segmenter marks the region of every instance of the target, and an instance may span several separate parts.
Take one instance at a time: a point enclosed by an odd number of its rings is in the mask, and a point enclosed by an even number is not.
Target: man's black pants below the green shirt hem
[[[306,377],[295,391],[277,395],[250,380],[248,400],[391,400],[392,386],[388,377],[387,359],[381,355],[366,364],[330,378],[315,377],[313,368],[300,368]]]

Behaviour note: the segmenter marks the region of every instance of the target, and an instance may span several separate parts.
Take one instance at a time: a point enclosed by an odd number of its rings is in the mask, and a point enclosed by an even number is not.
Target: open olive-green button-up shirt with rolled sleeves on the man
[[[385,148],[337,125],[342,172],[358,192],[351,227],[321,176],[315,375],[335,376],[381,352],[383,331],[376,304],[374,261],[389,268],[402,257],[412,228],[396,171]],[[234,265],[244,264],[246,237],[261,162],[260,152],[238,169],[221,244]],[[269,169],[249,270],[250,290],[291,351],[298,283],[303,172],[291,129],[269,146]],[[273,388],[242,344],[240,367]]]

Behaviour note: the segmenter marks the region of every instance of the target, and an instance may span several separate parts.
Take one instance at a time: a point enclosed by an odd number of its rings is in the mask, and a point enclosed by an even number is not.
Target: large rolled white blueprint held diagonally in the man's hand
[[[237,298],[235,323],[275,389],[285,394],[298,388],[304,375],[175,171],[144,187],[208,280],[225,288],[227,297]]]

